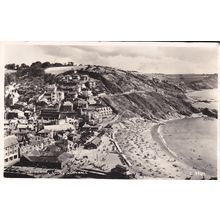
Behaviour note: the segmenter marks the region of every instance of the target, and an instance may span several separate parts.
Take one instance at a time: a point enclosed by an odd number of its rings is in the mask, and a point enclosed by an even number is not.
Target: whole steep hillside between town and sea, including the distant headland
[[[217,87],[217,74],[138,74],[110,67],[88,67],[83,73],[99,80],[107,92],[103,100],[124,117],[166,119],[201,112],[187,99],[186,90]]]

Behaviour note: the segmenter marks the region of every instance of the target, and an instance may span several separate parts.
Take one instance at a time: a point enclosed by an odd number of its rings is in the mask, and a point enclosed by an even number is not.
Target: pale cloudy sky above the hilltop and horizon
[[[140,73],[217,73],[217,44],[74,43],[5,45],[5,63],[36,61],[111,66]]]

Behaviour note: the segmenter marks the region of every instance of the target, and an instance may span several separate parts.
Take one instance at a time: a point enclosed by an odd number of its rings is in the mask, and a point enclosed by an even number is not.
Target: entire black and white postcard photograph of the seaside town
[[[4,177],[217,180],[218,46],[4,44]]]

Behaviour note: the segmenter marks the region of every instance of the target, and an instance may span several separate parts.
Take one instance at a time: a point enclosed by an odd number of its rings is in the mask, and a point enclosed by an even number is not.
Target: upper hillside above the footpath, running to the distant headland
[[[186,90],[213,89],[218,87],[218,74],[140,74],[111,67],[88,66],[82,72],[103,83],[111,93],[155,91],[182,93]]]

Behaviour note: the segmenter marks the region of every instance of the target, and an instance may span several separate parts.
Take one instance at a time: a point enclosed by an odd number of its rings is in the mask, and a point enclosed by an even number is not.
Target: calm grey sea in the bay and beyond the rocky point
[[[209,100],[217,109],[217,89],[192,92],[196,99]],[[200,103],[200,102],[199,102]],[[206,106],[203,106],[206,107]],[[207,116],[171,120],[160,126],[160,132],[170,151],[195,170],[217,176],[217,124]]]

